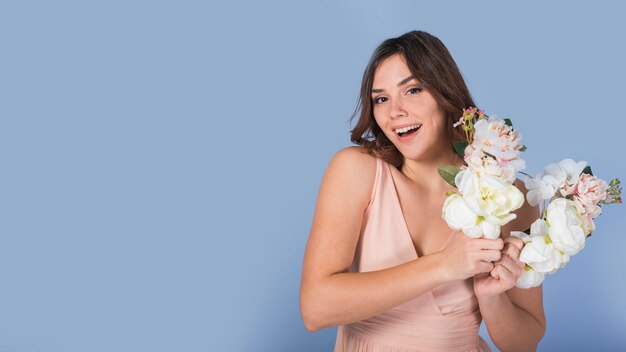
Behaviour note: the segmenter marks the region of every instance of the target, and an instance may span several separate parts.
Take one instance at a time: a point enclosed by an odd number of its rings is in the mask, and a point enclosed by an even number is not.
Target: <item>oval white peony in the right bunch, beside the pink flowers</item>
[[[546,222],[554,248],[568,255],[574,255],[583,249],[586,233],[583,219],[573,201],[565,198],[551,201]]]

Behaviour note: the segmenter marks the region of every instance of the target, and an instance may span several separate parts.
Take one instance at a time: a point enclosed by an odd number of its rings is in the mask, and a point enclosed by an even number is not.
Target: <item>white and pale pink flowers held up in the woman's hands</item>
[[[515,219],[512,212],[524,203],[513,185],[518,172],[525,175],[528,203],[542,202],[542,215],[530,229],[511,232],[524,241],[519,260],[526,266],[517,287],[539,286],[546,273],[565,266],[595,230],[600,205],[622,202],[620,180],[607,184],[593,176],[586,161],[549,164],[535,177],[521,172],[526,163],[520,152],[526,147],[509,119],[488,118],[483,110],[468,108],[454,127],[459,125],[466,141],[454,147],[467,165],[439,167],[439,174],[457,188],[442,210],[450,227],[471,237],[498,238],[500,227]]]

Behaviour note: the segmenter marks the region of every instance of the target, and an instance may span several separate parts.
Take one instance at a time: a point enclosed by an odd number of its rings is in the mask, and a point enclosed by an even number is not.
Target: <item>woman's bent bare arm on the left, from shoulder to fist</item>
[[[306,246],[300,310],[309,331],[363,320],[454,279],[489,272],[501,240],[455,236],[444,251],[384,270],[348,272],[375,178],[376,160],[348,147],[322,179]],[[484,260],[484,261],[483,261]]]

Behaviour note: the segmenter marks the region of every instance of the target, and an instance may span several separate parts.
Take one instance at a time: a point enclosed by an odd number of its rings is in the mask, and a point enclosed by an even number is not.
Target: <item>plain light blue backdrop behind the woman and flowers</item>
[[[434,34],[527,172],[626,180],[624,10],[2,2],[0,350],[331,350],[336,328],[302,323],[302,258],[374,48]],[[596,223],[545,282],[541,351],[626,348],[624,206]]]

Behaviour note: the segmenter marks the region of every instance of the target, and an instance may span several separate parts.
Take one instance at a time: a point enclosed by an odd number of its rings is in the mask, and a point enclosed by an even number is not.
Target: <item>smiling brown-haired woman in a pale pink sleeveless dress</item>
[[[524,205],[496,240],[453,231],[441,216],[453,188],[437,167],[462,165],[453,124],[470,106],[438,38],[413,31],[374,52],[352,130],[359,146],[328,165],[302,271],[304,324],[339,326],[335,351],[489,351],[482,319],[502,351],[537,348],[542,289],[515,287],[522,243],[509,232],[529,228],[538,209]]]

